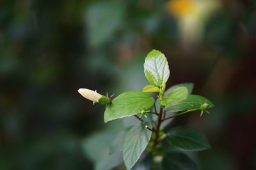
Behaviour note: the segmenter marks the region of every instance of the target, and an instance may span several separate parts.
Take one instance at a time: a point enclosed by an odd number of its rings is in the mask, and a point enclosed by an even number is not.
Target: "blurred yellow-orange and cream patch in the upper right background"
[[[192,49],[200,43],[205,21],[220,6],[220,0],[169,0],[166,3],[166,10],[177,19],[180,41],[185,48]]]

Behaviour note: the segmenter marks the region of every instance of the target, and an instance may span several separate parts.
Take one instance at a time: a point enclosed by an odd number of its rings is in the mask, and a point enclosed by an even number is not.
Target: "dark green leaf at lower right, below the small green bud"
[[[170,129],[167,139],[173,146],[187,151],[200,151],[211,148],[204,134],[191,127]]]

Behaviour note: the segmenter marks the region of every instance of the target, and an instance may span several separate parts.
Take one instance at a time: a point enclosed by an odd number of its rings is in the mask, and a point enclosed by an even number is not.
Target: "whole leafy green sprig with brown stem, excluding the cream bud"
[[[145,86],[143,91],[120,94],[104,112],[104,122],[134,116],[140,124],[123,129],[114,140],[112,133],[109,137],[112,143],[106,151],[108,157],[100,161],[96,169],[111,169],[123,161],[128,170],[140,166],[145,169],[196,169],[184,151],[211,148],[204,134],[191,127],[164,129],[163,122],[196,110],[200,110],[202,116],[214,105],[205,97],[191,94],[193,83],[174,85],[166,90],[170,70],[166,57],[158,50],[148,53],[144,71],[151,85]],[[85,147],[90,148],[94,141],[87,141]],[[164,141],[169,143],[167,148],[163,148]]]

